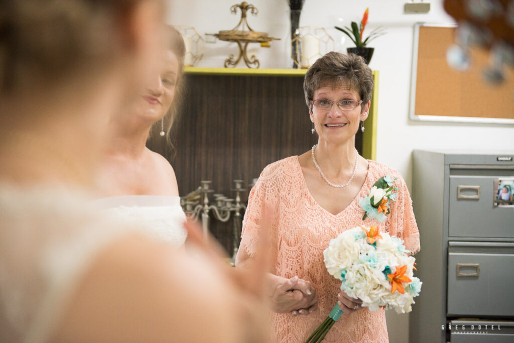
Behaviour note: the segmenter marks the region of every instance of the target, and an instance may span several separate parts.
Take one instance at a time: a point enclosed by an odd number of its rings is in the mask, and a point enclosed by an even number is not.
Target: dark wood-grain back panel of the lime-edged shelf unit
[[[303,77],[186,74],[183,104],[173,124],[175,155],[156,135],[149,147],[167,157],[180,195],[212,180],[216,193],[233,197],[232,180],[248,184],[269,163],[301,155],[317,142],[303,95]],[[362,151],[359,130],[356,146]],[[212,198],[211,198],[212,199]],[[231,220],[210,230],[232,250]]]

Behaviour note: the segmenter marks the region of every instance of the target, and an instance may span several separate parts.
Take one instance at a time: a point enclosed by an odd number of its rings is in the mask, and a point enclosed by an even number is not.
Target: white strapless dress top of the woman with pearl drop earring
[[[183,228],[186,214],[178,196],[127,195],[92,201],[101,211],[128,224],[137,224],[146,234],[174,246],[182,246],[187,238]]]

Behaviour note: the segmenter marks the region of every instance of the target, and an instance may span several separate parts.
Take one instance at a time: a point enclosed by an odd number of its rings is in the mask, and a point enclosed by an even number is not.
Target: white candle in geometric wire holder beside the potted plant
[[[299,68],[309,68],[321,56],[335,47],[334,39],[321,26],[302,26],[296,31],[291,43],[296,46],[296,58],[291,56]]]

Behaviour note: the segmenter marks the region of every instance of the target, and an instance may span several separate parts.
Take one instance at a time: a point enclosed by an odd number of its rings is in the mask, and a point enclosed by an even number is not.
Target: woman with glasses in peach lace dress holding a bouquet
[[[355,148],[359,124],[370,110],[371,69],[359,56],[330,52],[305,74],[304,92],[318,144],[303,155],[264,168],[250,192],[236,265],[252,262],[262,208],[272,207],[276,214],[272,226],[275,263],[269,285],[275,304],[271,309],[273,340],[304,342],[338,301],[344,315],[324,341],[388,342],[384,310],[370,312],[360,306],[359,299],[348,297],[323,262],[328,242],[358,225],[378,225],[381,231],[403,239],[411,253],[420,248],[403,178],[396,170],[359,156]],[[382,222],[369,217],[362,220],[365,212],[359,199],[385,175],[397,178],[390,214]]]

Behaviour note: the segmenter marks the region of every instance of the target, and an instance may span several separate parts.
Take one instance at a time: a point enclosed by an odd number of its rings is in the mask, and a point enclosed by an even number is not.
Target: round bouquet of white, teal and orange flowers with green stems
[[[358,226],[332,239],[323,256],[328,273],[341,280],[346,294],[361,299],[362,307],[407,313],[422,283],[413,276],[415,259],[408,253],[401,239],[380,232],[378,226]],[[322,341],[342,314],[336,303],[306,342]]]

